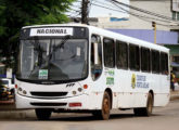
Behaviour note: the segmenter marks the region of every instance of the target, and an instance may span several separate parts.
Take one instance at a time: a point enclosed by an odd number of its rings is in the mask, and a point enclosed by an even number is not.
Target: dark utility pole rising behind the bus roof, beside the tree
[[[81,1],[81,24],[88,24],[88,4],[89,0]]]

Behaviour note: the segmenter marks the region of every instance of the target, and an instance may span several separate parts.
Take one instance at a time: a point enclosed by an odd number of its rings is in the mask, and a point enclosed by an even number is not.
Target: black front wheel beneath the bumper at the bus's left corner
[[[48,120],[52,110],[48,108],[36,108],[36,116],[39,120]]]

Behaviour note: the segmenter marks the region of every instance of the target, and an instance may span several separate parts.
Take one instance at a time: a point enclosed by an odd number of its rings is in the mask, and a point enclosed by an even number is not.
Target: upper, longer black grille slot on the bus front
[[[36,96],[64,96],[67,92],[30,92],[31,95]]]

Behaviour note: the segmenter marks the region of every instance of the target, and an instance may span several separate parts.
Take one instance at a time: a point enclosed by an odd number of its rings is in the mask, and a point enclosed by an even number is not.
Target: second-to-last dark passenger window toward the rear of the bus
[[[159,74],[159,52],[152,50],[152,73]]]

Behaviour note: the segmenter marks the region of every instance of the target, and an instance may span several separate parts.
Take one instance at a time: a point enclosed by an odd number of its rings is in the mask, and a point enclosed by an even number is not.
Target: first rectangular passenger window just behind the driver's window
[[[104,66],[114,68],[115,66],[115,44],[113,39],[103,39],[103,50],[104,50]]]

